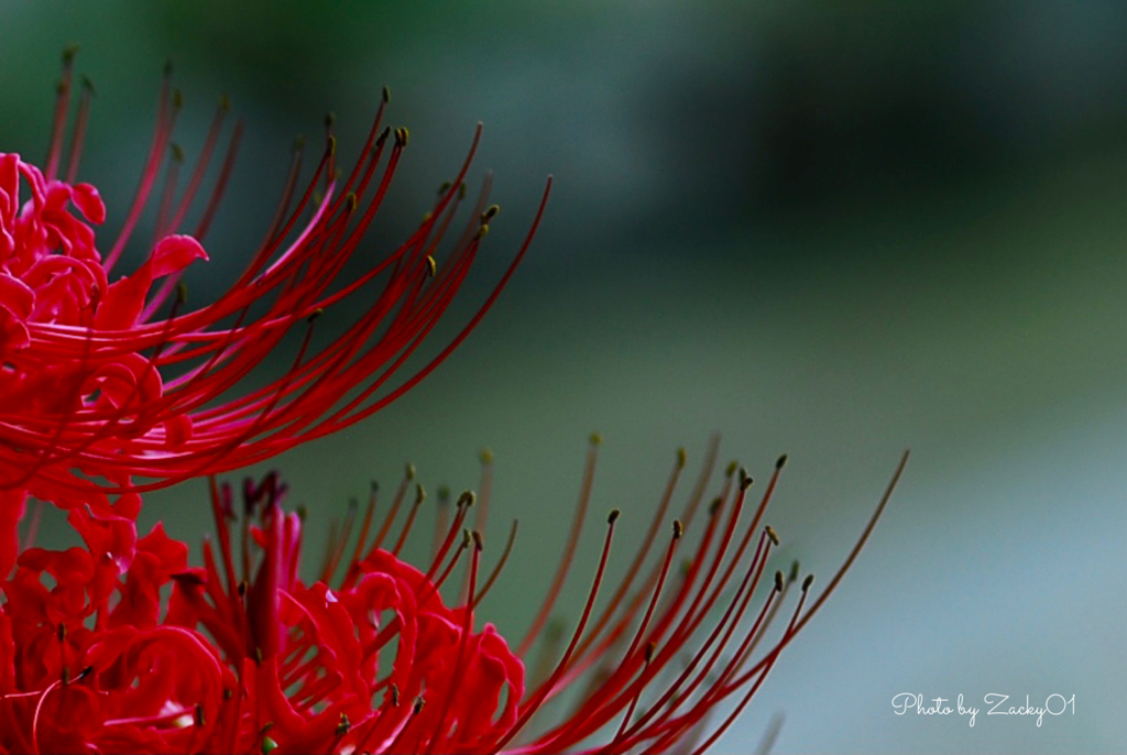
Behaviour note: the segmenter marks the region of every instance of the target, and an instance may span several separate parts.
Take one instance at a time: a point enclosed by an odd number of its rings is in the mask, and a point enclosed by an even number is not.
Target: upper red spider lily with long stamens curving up
[[[406,128],[381,125],[384,90],[362,157],[347,175],[337,170],[330,133],[313,177],[298,190],[298,149],[277,213],[246,269],[214,301],[192,309],[179,278],[188,265],[207,259],[202,241],[228,183],[241,125],[234,127],[198,224],[186,234],[227,106],[220,107],[198,165],[177,196],[179,150],[171,135],[180,104],[166,76],[140,186],[121,232],[103,254],[91,224],[105,220],[105,204],[92,186],[76,183],[89,86],[82,88],[62,167],[72,56],[64,55],[46,167],[0,154],[0,491],[11,499],[0,519],[18,518],[27,492],[66,506],[95,488],[142,491],[238,469],[372,415],[465,338],[540,222],[547,189],[527,237],[478,312],[429,362],[400,376],[465,279],[497,207],[487,206],[487,180],[469,223],[452,230],[464,204],[479,127],[464,165],[418,229],[357,277],[341,274],[408,142]],[[314,190],[322,181],[321,192]],[[156,233],[147,260],[112,282],[142,212],[153,204]],[[444,245],[451,237],[452,243]],[[444,258],[440,246],[451,249]],[[365,311],[318,348],[314,320],[349,296],[363,296]],[[300,341],[292,366],[247,388],[248,375],[291,334]]]

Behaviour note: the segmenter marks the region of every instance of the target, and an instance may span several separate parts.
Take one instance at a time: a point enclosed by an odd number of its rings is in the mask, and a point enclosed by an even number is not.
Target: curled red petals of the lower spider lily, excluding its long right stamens
[[[274,478],[264,490],[249,581],[233,581],[225,528],[222,562],[207,545],[189,568],[161,525],[139,539],[130,517],[82,508],[85,548],[19,553],[0,610],[0,752],[446,753],[512,728],[524,668],[491,625],[474,631],[383,550],[339,589],[307,587],[301,523]]]

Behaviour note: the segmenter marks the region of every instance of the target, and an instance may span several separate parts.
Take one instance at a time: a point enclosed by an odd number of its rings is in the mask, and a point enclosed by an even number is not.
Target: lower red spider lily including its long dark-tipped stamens
[[[789,578],[777,571],[773,581],[761,584],[778,544],[762,519],[783,460],[757,504],[747,498],[751,478],[731,465],[702,506],[715,455],[713,445],[662,545],[662,523],[684,468],[678,454],[638,553],[598,613],[593,606],[618,513],[607,517],[589,596],[566,648],[559,652],[547,642],[550,663],[534,664],[542,670],[527,675],[524,659],[545,633],[588,508],[594,447],[564,559],[515,650],[492,625],[477,629],[476,615],[508,559],[515,525],[482,579],[482,538],[464,528],[474,497],[463,494],[453,516],[444,524],[438,518],[426,572],[410,567],[399,553],[425,497],[416,486],[415,504],[400,516],[412,470],[379,527],[373,488],[345,558],[353,510],[311,586],[298,577],[301,517],[282,508],[285,489],[274,474],[243,486],[243,516],[234,527],[230,487],[212,482],[218,552],[205,541],[203,568],[187,568],[186,547],[159,524],[137,539],[127,516],[74,508],[71,523],[86,548],[26,549],[3,587],[0,749],[703,752],[835,589],[907,459],[842,567],[814,598],[811,577],[798,583],[797,565]],[[478,527],[488,473],[487,464]],[[255,517],[258,524],[250,523]],[[685,548],[677,572],[673,563]],[[451,585],[459,563],[464,580]],[[161,589],[169,584],[162,610]],[[460,593],[455,607],[443,590]],[[783,607],[796,592],[793,606]],[[565,702],[568,713],[560,712]],[[713,721],[725,702],[725,718]]]

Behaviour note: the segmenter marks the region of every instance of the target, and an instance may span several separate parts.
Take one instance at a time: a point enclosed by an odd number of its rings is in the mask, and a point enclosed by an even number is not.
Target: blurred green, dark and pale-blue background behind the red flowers
[[[59,53],[80,44],[97,88],[81,177],[113,229],[166,60],[189,156],[227,92],[247,136],[214,261],[192,284],[205,296],[257,242],[293,137],[317,143],[326,110],[345,156],[383,85],[411,130],[373,255],[483,121],[474,175],[496,171],[503,213],[455,322],[515,251],[548,174],[550,211],[435,375],[278,460],[314,512],[311,551],[370,479],[391,488],[410,461],[431,489],[476,487],[489,446],[492,539],[514,516],[522,534],[485,610],[518,637],[588,433],[605,444],[573,619],[597,512],[621,507],[640,530],[675,448],[699,460],[719,432],[721,456],[763,479],[790,454],[769,518],[783,558],[825,584],[911,447],[863,557],[718,750],[752,750],[783,713],[779,753],[1122,752],[1125,29],[1115,0],[3,0],[0,149],[41,159]],[[195,541],[204,496],[154,495],[144,518]],[[630,550],[616,552],[622,568]],[[970,728],[895,716],[900,692],[978,707],[1074,694],[1075,713]]]

